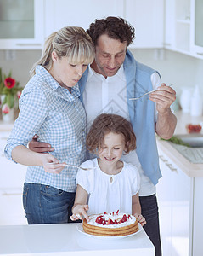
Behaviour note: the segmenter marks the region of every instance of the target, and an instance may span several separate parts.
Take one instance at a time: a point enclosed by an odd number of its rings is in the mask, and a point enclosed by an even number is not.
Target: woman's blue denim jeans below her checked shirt
[[[71,222],[75,195],[48,185],[24,183],[23,206],[28,224]]]

